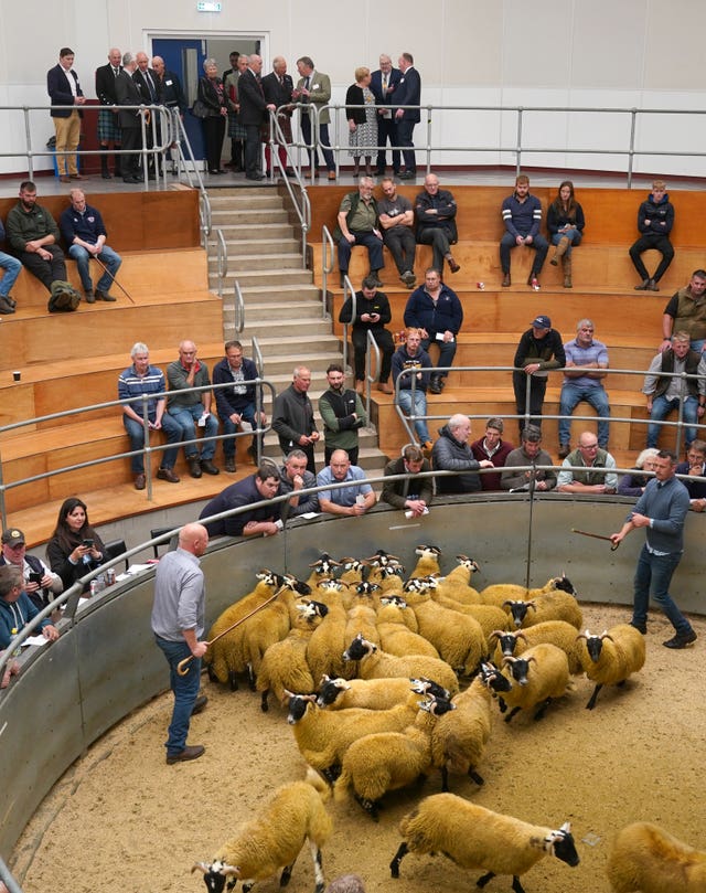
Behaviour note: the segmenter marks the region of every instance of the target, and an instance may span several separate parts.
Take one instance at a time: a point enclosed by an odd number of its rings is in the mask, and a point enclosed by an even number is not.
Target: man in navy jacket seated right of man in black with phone
[[[421,347],[429,350],[429,344],[439,348],[438,368],[450,366],[456,357],[456,337],[463,323],[463,308],[456,291],[441,281],[436,267],[425,273],[425,284],[415,289],[405,307],[405,326],[421,331]],[[429,392],[440,394],[449,373],[434,372],[429,382]]]

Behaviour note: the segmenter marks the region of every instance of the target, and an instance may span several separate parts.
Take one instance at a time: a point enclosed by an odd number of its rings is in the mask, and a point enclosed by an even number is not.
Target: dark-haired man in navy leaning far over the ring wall
[[[231,509],[253,506],[263,500],[274,499],[279,493],[279,475],[274,463],[265,461],[254,475],[238,480],[222,490],[204,509],[199,520],[211,518]],[[271,535],[282,529],[281,503],[268,503],[242,514],[222,518],[220,521],[204,521],[210,536],[259,536]]]

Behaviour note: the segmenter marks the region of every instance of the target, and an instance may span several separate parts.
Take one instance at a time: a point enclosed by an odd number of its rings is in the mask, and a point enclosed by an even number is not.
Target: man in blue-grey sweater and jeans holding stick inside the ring
[[[643,635],[648,631],[652,595],[675,629],[674,637],[662,644],[665,648],[686,648],[696,641],[696,632],[670,595],[672,576],[684,553],[684,521],[688,511],[688,491],[675,472],[676,456],[667,449],[660,450],[654,479],[648,483],[621,530],[610,539],[613,545],[619,545],[631,530],[645,529],[646,542],[635,567],[630,624]]]

